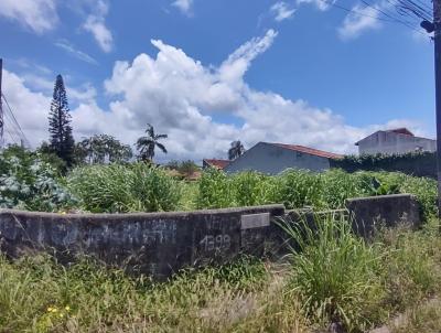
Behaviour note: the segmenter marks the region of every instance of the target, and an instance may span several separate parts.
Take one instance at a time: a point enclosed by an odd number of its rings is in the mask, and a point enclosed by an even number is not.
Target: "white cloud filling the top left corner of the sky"
[[[41,34],[58,23],[56,0],[1,0],[0,15]]]

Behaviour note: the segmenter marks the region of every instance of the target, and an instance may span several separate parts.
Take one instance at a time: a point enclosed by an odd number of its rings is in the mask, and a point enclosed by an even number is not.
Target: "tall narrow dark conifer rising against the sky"
[[[74,161],[74,137],[72,135],[71,114],[63,77],[56,76],[54,94],[49,115],[50,148],[67,166]]]

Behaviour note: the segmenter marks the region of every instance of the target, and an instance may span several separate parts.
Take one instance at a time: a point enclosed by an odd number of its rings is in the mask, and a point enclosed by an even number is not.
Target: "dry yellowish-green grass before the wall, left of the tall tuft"
[[[262,261],[184,271],[164,283],[88,259],[0,258],[0,332],[301,332],[297,300]]]

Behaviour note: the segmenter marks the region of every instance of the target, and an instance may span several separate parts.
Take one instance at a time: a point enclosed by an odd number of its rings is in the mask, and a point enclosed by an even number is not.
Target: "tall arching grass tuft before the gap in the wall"
[[[313,225],[281,222],[295,246],[292,255],[292,292],[306,313],[322,325],[367,329],[376,315],[366,310],[381,298],[378,279],[380,253],[352,233],[344,216],[316,216]]]

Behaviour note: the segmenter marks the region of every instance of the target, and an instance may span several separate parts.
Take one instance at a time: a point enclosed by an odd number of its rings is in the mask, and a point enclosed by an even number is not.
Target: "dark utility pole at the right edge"
[[[441,0],[433,0],[434,85],[437,110],[438,217],[441,230]]]

